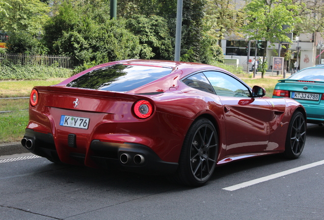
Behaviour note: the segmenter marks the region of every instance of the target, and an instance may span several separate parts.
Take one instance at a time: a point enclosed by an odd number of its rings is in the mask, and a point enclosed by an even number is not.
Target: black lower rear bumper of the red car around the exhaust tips
[[[30,144],[26,145],[26,141]],[[46,157],[51,161],[60,161],[53,135],[50,133],[26,129],[22,145],[38,156]],[[68,156],[68,162],[71,164],[120,169],[142,174],[171,174],[178,168],[178,163],[163,161],[152,149],[136,143],[93,140],[86,154],[79,153],[75,147],[68,148],[71,148],[67,151],[69,155],[64,155],[64,157]],[[96,166],[91,164],[96,164]]]

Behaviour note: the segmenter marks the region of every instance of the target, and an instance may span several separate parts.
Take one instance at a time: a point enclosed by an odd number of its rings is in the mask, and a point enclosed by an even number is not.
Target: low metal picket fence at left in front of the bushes
[[[51,66],[57,68],[74,69],[82,65],[83,61],[75,57],[57,55],[29,55],[19,53],[0,54],[0,64]]]

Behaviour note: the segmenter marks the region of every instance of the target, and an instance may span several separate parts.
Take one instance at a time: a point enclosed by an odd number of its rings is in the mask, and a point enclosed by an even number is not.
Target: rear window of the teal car
[[[324,68],[303,69],[293,74],[287,79],[305,80],[305,81],[324,81]]]

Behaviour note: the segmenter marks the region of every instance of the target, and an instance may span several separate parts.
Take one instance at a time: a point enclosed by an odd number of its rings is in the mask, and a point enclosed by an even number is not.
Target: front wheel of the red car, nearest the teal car
[[[300,111],[296,111],[289,122],[284,156],[289,159],[298,158],[303,152],[305,141],[306,120]]]

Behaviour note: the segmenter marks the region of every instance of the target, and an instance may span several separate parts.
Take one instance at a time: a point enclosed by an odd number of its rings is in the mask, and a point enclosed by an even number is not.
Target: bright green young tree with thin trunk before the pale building
[[[265,40],[279,43],[290,42],[287,37],[294,29],[294,24],[300,21],[298,17],[300,7],[293,5],[291,0],[252,0],[246,5],[244,11],[248,22],[242,29],[253,40]],[[284,25],[288,25],[284,29]],[[267,69],[265,62],[266,49],[261,64],[262,78]]]

